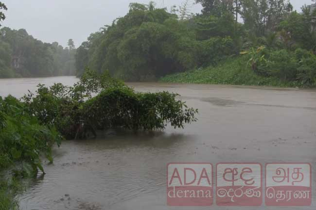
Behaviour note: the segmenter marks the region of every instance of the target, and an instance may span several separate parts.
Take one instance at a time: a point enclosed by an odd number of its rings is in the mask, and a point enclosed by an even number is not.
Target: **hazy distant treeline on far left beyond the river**
[[[69,40],[63,48],[57,42],[43,43],[25,29],[0,30],[0,78],[75,75],[75,48]]]

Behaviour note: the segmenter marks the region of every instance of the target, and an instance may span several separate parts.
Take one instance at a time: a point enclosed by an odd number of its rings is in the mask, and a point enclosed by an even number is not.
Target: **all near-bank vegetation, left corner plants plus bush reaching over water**
[[[176,94],[136,93],[121,81],[87,70],[80,81],[68,87],[39,84],[35,94],[21,100],[0,97],[0,173],[10,168],[9,178],[0,178],[0,210],[14,209],[16,178],[44,173],[41,154],[53,162],[52,146],[61,140],[96,136],[97,130],[174,128],[196,121],[197,110],[176,99]]]

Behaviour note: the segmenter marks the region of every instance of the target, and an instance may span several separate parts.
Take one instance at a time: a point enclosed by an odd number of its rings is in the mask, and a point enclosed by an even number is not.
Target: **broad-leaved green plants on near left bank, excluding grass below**
[[[25,104],[15,97],[0,98],[0,168],[21,162],[30,165],[32,173],[43,171],[40,153],[51,160],[51,146],[58,145],[62,137],[51,126],[40,125],[37,118],[29,113]],[[22,175],[24,168],[22,167]]]

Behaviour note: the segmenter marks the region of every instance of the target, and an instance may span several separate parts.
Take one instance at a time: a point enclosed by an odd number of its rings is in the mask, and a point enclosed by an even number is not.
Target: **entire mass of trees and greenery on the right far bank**
[[[125,16],[92,33],[78,48],[77,75],[88,66],[125,81],[185,72],[180,75],[191,82],[316,85],[314,7],[303,6],[298,13],[285,0],[196,2],[203,6],[201,14],[190,13],[189,0],[170,11],[155,8],[153,2],[131,3]],[[245,63],[231,66],[230,57],[234,64]],[[230,75],[247,75],[253,82],[225,79],[228,71],[222,72],[218,64],[230,65]],[[194,80],[187,72],[193,69],[203,69],[195,71],[199,77],[209,69],[218,71],[223,80]],[[178,74],[167,78],[162,80],[182,80]]]

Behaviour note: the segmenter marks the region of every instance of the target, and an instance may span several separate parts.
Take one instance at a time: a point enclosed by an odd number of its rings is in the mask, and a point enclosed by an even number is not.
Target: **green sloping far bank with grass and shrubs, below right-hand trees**
[[[316,56],[297,49],[253,50],[205,68],[167,75],[164,82],[315,87]],[[258,53],[258,54],[256,54]]]

